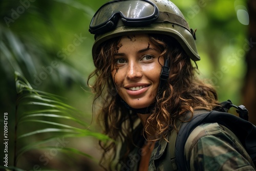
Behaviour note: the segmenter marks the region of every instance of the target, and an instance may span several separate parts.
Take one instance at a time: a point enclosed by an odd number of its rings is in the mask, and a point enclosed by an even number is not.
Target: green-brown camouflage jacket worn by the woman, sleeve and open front
[[[168,141],[172,143],[169,137]],[[138,170],[144,142],[140,137],[129,159],[120,163],[119,170]],[[189,135],[184,151],[190,170],[255,170],[238,138],[218,123],[197,126]],[[171,165],[168,142],[161,139],[155,144],[148,170],[171,171]]]

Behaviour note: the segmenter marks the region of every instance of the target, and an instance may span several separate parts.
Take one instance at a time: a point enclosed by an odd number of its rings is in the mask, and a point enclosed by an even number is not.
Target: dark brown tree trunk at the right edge
[[[247,72],[243,87],[243,104],[249,111],[249,121],[256,124],[256,1],[248,0],[250,49],[246,54]]]

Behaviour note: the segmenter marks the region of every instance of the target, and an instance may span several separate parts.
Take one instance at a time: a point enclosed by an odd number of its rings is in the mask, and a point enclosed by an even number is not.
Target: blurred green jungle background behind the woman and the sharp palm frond
[[[82,111],[81,120],[100,132],[92,116],[93,95],[87,78],[94,70],[91,48],[94,37],[88,32],[96,10],[107,0],[3,0],[0,2],[0,116],[9,116],[9,137],[14,132],[16,89],[14,71],[22,74],[36,90],[53,93]],[[231,99],[240,104],[247,65],[248,10],[246,1],[190,0],[173,2],[181,9],[196,31],[201,60],[200,77],[214,84],[220,101]],[[248,48],[249,47],[249,48]],[[26,108],[23,109],[26,111]],[[22,112],[22,111],[20,111]],[[1,134],[3,118],[1,119]],[[31,123],[32,124],[32,123]],[[33,129],[24,125],[22,130]],[[2,136],[2,135],[1,135]],[[31,139],[38,139],[32,137]],[[1,144],[3,138],[1,137]],[[30,139],[23,140],[26,144]],[[58,153],[48,164],[40,161],[44,150],[28,152],[17,166],[26,170],[97,170],[100,152],[97,139],[69,139],[69,145],[95,160],[73,154]],[[2,154],[3,150],[1,149]],[[13,142],[9,140],[9,165],[13,165]],[[2,156],[1,156],[2,158]],[[2,161],[1,161],[2,162]],[[2,164],[0,164],[2,165]]]

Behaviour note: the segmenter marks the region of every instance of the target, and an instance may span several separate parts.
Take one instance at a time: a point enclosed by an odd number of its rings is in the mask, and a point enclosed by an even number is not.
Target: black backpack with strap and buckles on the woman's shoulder
[[[201,123],[217,122],[232,131],[241,141],[246,152],[256,166],[256,126],[248,121],[248,111],[245,106],[233,105],[230,100],[221,103],[222,108],[212,111],[195,111],[189,122],[182,122],[178,133],[172,131],[170,135],[170,160],[174,170],[189,170],[184,156],[184,146],[189,134]],[[234,107],[239,117],[227,113]],[[188,117],[189,119],[189,117]],[[172,143],[174,142],[174,143]]]

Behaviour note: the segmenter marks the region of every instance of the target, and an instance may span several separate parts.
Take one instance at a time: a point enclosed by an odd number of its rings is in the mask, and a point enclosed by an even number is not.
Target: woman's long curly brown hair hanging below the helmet
[[[181,116],[194,110],[212,110],[219,105],[217,93],[209,84],[197,78],[198,67],[183,51],[179,43],[173,37],[160,34],[148,34],[151,42],[161,51],[165,59],[169,59],[169,78],[163,91],[157,95],[154,109],[147,118],[143,128],[143,134],[150,134],[149,130],[155,130],[155,140],[166,137],[170,129],[176,129],[176,121],[181,120]],[[95,55],[96,69],[90,74],[89,80],[96,76],[93,86],[90,86],[95,93],[93,110],[98,106],[98,121],[102,124],[103,133],[108,135],[115,142],[125,139],[128,144],[126,152],[120,156],[118,162],[124,162],[131,151],[134,142],[133,131],[138,116],[127,110],[120,102],[112,76],[112,64],[114,54],[118,51],[118,43],[121,37],[113,38],[103,42]],[[94,112],[93,112],[94,113]],[[183,121],[183,120],[181,120]],[[106,161],[107,154],[113,153],[110,159],[109,169],[117,155],[117,145],[115,142],[103,143],[99,141],[103,154],[100,164]]]

